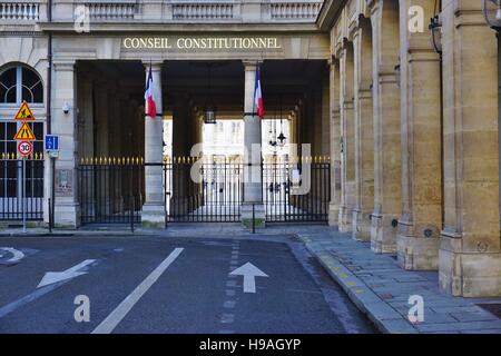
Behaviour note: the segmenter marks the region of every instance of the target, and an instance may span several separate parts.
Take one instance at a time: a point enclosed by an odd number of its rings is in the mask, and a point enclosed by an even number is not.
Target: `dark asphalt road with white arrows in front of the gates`
[[[247,263],[267,277],[249,277],[245,287],[244,276],[230,273]],[[75,273],[72,278],[38,287],[46,273],[79,264],[85,266],[49,276]],[[81,306],[75,304],[77,296],[88,297],[89,322],[75,319]],[[342,334],[374,328],[288,236],[0,238],[0,333],[92,332]]]

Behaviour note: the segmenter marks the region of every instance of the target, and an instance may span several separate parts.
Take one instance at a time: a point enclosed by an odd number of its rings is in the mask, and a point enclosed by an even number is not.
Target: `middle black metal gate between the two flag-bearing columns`
[[[167,221],[237,222],[243,201],[243,165],[194,157],[164,162]]]

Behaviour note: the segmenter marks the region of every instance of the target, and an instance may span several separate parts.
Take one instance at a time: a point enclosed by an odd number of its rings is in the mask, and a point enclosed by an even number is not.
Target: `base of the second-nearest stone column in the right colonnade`
[[[406,216],[399,220],[396,256],[406,270],[439,270],[440,230],[435,226],[414,227]]]

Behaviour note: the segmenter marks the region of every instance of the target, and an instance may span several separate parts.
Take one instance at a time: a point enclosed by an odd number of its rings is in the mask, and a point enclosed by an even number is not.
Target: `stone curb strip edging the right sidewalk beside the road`
[[[297,237],[380,332],[384,334],[418,334],[418,330],[399,312],[381,299],[338,259],[326,253],[320,243],[312,241],[302,234],[298,234]]]

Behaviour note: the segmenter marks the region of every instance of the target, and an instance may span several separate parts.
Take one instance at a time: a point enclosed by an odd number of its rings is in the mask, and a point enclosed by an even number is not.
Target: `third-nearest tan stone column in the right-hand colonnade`
[[[401,214],[399,3],[371,0],[373,34],[374,107],[374,212],[371,217],[371,248],[396,251],[396,227]]]

